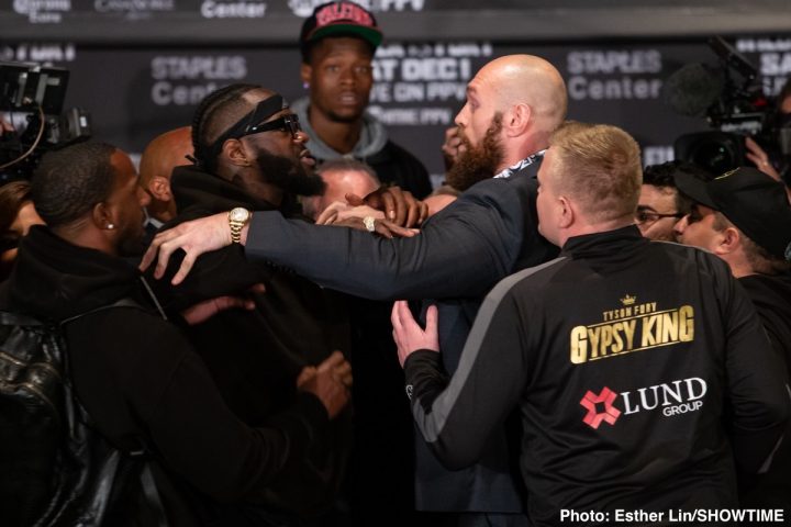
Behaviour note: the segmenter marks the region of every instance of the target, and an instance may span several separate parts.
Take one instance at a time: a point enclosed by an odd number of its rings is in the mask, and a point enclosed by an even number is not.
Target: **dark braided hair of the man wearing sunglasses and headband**
[[[211,153],[212,144],[241,114],[250,109],[244,94],[263,89],[257,85],[237,82],[214,90],[201,100],[192,116],[192,150],[203,168],[209,171],[216,169],[216,154]]]

